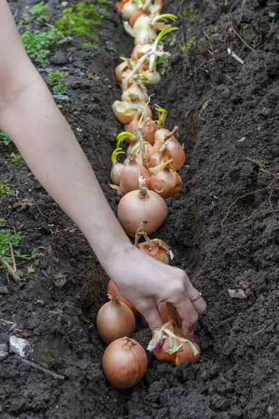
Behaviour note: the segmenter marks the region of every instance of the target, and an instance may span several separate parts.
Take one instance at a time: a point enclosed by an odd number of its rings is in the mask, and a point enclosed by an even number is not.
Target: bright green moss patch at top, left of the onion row
[[[107,0],[98,0],[98,3],[78,3],[73,8],[63,10],[63,17],[56,22],[64,36],[80,36],[86,38],[84,46],[96,47],[100,41],[103,17],[108,15],[111,3]]]

